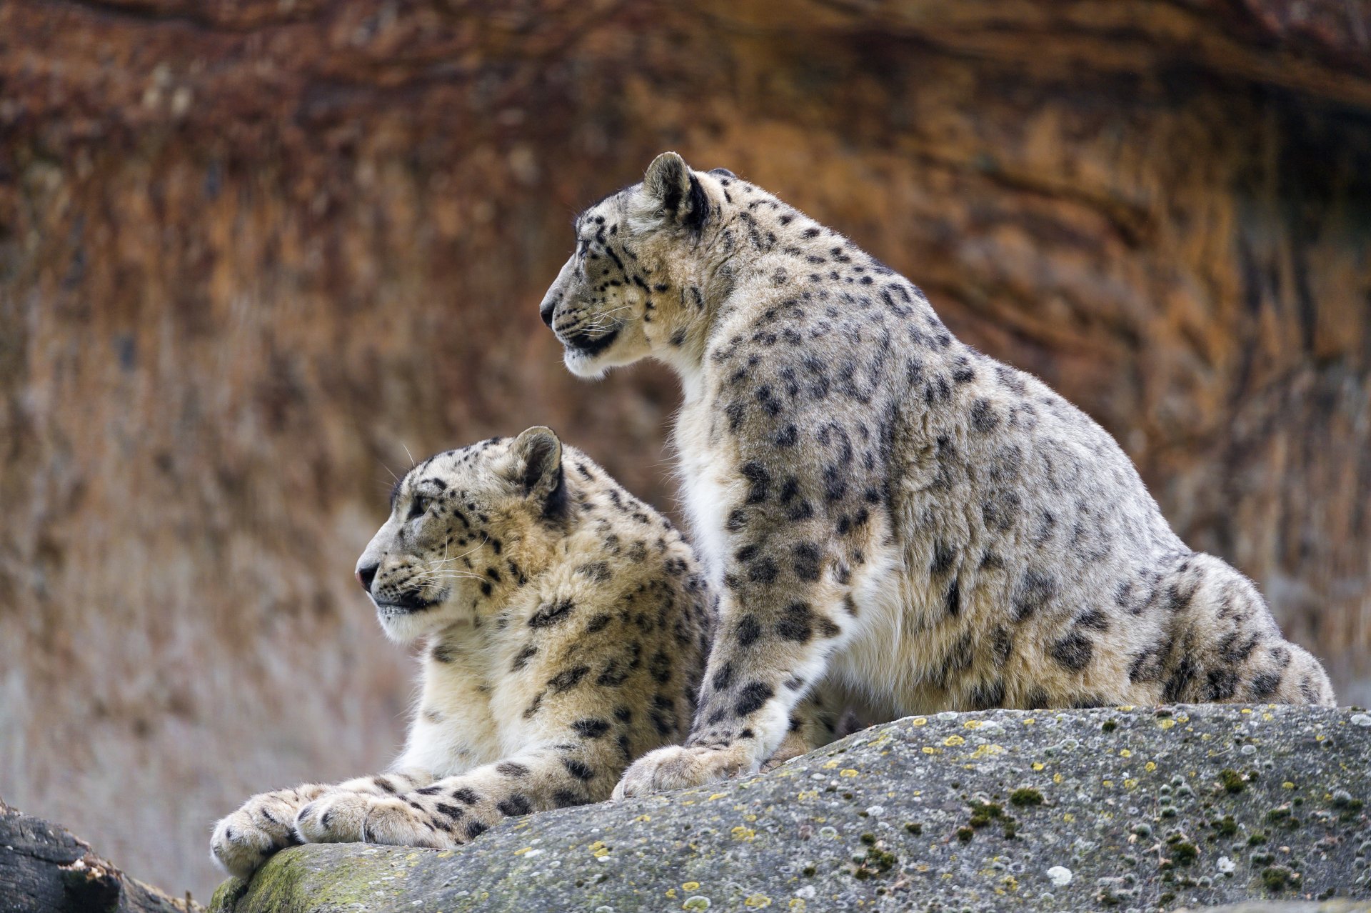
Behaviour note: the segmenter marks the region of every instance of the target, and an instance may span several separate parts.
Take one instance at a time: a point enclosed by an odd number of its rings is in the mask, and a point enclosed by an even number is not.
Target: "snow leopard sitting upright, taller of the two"
[[[912,282],[727,170],[666,152],[576,219],[542,304],[583,377],[681,377],[695,547],[720,629],[684,746],[620,794],[754,770],[797,702],[1333,703],[1253,584],[1171,531],[1132,463]],[[742,733],[753,738],[742,738]]]

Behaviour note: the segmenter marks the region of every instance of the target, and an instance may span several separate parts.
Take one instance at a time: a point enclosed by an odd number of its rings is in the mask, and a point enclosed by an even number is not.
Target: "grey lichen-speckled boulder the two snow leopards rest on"
[[[214,913],[1176,909],[1371,898],[1371,716],[910,717],[762,776],[511,820],[458,850],[303,846]],[[1330,908],[1334,909],[1334,908]]]

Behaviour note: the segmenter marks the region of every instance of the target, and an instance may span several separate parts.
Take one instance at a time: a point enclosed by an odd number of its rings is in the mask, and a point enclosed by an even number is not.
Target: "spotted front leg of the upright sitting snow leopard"
[[[856,631],[853,563],[865,561],[862,546],[884,522],[880,491],[866,500],[861,485],[840,481],[829,461],[851,459],[850,447],[821,428],[805,461],[766,447],[743,452],[718,494],[727,504],[720,626],[691,735],[635,762],[616,798],[758,770],[803,727],[797,705]]]

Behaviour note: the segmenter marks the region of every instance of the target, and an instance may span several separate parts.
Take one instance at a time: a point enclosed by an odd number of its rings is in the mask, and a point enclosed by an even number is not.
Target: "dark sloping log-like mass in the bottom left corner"
[[[200,913],[130,879],[66,828],[0,801],[0,913]]]

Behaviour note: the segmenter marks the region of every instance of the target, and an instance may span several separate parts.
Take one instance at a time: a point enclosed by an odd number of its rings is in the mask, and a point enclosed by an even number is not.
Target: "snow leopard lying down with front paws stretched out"
[[[404,753],[248,799],[211,843],[232,875],[302,840],[447,847],[606,799],[687,732],[710,587],[666,518],[546,428],[411,469],[356,577],[389,637],[428,642]]]

